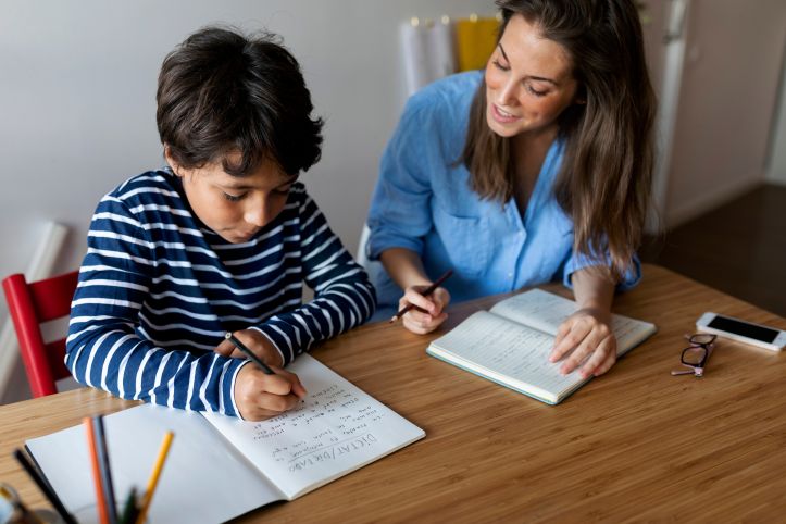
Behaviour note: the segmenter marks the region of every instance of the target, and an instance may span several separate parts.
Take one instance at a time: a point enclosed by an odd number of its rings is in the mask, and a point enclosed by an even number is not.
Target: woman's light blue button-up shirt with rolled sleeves
[[[573,272],[599,262],[573,252],[573,223],[553,196],[564,142],[554,140],[549,148],[524,216],[513,199],[504,205],[481,199],[458,162],[482,74],[452,75],[407,102],[380,162],[366,254],[376,260],[389,248],[410,249],[432,279],[452,269],[444,285],[452,301],[556,279],[570,286]],[[401,289],[380,264],[371,274],[384,315],[398,304]],[[636,261],[617,288],[639,278]]]

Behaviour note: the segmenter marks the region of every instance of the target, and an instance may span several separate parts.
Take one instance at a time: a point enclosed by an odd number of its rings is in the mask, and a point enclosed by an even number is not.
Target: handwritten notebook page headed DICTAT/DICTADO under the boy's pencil
[[[289,499],[425,436],[309,354],[287,370],[309,392],[299,408],[257,423],[205,417]]]

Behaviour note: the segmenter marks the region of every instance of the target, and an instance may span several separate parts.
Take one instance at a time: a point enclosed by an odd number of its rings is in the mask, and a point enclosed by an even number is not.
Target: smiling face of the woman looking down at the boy
[[[576,101],[572,70],[562,46],[544,38],[524,16],[512,16],[486,64],[488,126],[501,137],[553,128]]]

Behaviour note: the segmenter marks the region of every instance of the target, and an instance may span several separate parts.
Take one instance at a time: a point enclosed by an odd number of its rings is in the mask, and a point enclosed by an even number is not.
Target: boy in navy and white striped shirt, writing
[[[320,158],[322,120],[272,36],[222,28],[166,57],[157,102],[169,166],[98,204],[65,363],[122,398],[276,415],[305,395],[283,367],[365,322],[376,300],[297,182]],[[303,280],[315,291],[307,304]],[[227,332],[274,374],[245,360]]]

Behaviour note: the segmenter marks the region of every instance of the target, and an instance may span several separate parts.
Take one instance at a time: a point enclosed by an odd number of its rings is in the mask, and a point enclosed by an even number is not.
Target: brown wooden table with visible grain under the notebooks
[[[704,311],[782,329],[786,320],[664,269],[644,272],[614,311],[658,334],[556,407],[426,355],[439,334],[379,323],[314,350],[426,438],[241,522],[783,522],[786,353],[723,340],[704,377],[669,372]],[[446,328],[496,300],[451,308]],[[43,506],[11,449],[132,404],[83,389],[0,408],[0,479]]]

